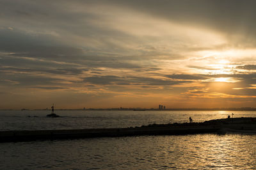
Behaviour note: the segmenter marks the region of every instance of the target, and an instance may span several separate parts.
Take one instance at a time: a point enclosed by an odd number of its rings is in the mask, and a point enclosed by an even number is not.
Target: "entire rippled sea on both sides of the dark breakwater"
[[[140,127],[256,111],[0,111],[0,130]],[[256,135],[195,134],[0,143],[0,169],[256,169]]]

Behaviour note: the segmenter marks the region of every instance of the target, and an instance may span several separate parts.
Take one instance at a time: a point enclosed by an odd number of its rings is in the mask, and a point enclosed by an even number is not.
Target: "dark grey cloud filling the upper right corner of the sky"
[[[112,1],[113,2],[113,1]],[[119,2],[119,3],[118,3]],[[247,35],[255,35],[253,29],[253,6],[255,1],[250,0],[246,3],[235,0],[182,0],[182,1],[115,1],[117,4],[135,8],[141,12],[150,13],[168,20],[175,20],[182,24],[193,24],[204,27],[211,27],[218,31],[228,33],[247,32]],[[227,8],[228,6],[228,8]]]

